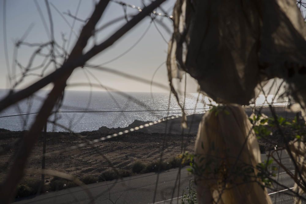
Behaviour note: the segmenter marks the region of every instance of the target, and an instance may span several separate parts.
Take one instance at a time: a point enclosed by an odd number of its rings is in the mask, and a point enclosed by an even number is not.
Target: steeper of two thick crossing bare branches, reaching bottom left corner
[[[102,14],[106,6],[108,5],[109,1],[101,0],[97,6],[95,7],[94,12],[91,15],[90,20],[84,26],[80,33],[80,38],[76,42],[70,57],[78,57],[82,54],[84,47],[87,45],[88,39],[91,37],[92,31],[95,29],[95,25],[98,23],[99,19],[101,18]],[[68,59],[68,61],[73,61],[73,58]],[[21,147],[18,149],[13,165],[10,168],[10,171],[6,177],[6,180],[3,182],[1,186],[1,195],[0,200],[3,203],[10,203],[14,198],[14,194],[16,191],[16,186],[20,182],[24,174],[24,168],[27,163],[28,157],[39,137],[39,134],[47,121],[54,105],[58,101],[58,98],[62,94],[65,89],[66,80],[69,78],[71,72],[75,67],[70,69],[70,72],[66,72],[62,75],[62,78],[57,80],[54,83],[54,87],[50,94],[48,95],[47,99],[43,103],[39,114],[37,115],[35,122],[32,124],[29,132],[25,133],[23,142],[21,143]]]

